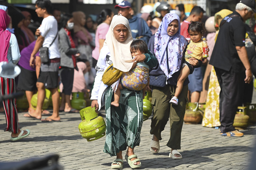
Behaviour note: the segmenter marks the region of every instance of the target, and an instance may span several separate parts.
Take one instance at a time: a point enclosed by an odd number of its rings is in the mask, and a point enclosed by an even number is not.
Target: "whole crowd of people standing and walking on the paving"
[[[114,6],[118,15],[104,9],[93,21],[82,11],[68,14],[53,9],[50,0],[37,0],[36,14],[43,20],[34,33],[28,28],[29,12],[17,14],[0,7],[0,59],[20,67],[15,79],[0,75],[1,95],[25,91],[29,108],[24,117],[52,122],[61,120],[59,111],[79,112],[70,104],[73,92],[89,93],[91,107],[106,110],[104,152],[116,156],[111,168],[123,168],[125,150],[131,168],[142,165],[134,148],[140,144],[146,91],[152,91],[152,153],[159,152],[161,132],[170,121],[169,157],[182,159],[178,150],[189,101],[206,103],[203,126],[220,127],[222,136],[244,135],[232,124],[237,107],[252,100],[255,22],[250,26],[244,22],[256,12],[254,0],[241,0],[234,12],[220,10],[214,24],[205,27],[205,11],[200,6],[186,16],[183,4],[171,9],[161,2],[155,9],[158,15],[153,8],[134,14],[130,2],[124,0]],[[208,40],[209,57],[202,56],[203,36]],[[48,47],[47,61],[40,54],[41,47]],[[102,76],[111,65],[123,75],[106,85]],[[200,95],[203,87],[206,93]],[[42,109],[45,89],[52,94],[52,114]],[[30,101],[36,92],[34,109]],[[5,131],[12,132],[11,140],[28,136],[29,130],[19,128],[15,99],[3,101],[3,106]],[[42,114],[49,116],[42,119]]]

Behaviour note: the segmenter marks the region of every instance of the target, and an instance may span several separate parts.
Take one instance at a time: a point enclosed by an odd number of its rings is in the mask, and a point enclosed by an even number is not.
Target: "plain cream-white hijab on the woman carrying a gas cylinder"
[[[119,42],[114,37],[113,30],[118,24],[123,24],[129,30],[128,38],[124,42]],[[113,66],[124,72],[132,68],[132,54],[130,52],[130,44],[132,41],[132,32],[128,20],[121,14],[115,15],[106,34],[104,45],[108,45]]]

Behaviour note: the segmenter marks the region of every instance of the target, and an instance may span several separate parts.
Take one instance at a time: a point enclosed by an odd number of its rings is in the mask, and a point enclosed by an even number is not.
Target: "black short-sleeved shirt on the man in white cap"
[[[238,12],[234,11],[223,18],[209,64],[226,71],[244,71],[245,68],[238,56],[236,46],[245,46],[245,34],[244,21]]]

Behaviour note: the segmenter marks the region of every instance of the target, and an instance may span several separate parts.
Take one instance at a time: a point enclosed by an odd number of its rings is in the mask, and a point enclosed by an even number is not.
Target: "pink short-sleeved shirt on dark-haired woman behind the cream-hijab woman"
[[[100,42],[99,40],[100,39],[106,39],[106,34],[108,32],[108,29],[109,29],[109,26],[108,24],[106,24],[105,22],[101,23],[97,30],[96,30],[96,35],[95,35],[95,48],[94,50],[92,51],[92,57],[96,60],[98,60],[99,58],[99,55],[100,55]]]

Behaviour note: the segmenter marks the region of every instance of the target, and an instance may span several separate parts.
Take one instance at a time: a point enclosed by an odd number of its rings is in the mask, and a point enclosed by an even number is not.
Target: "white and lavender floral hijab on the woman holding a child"
[[[173,20],[178,20],[179,28],[174,36],[169,36],[167,27]],[[177,14],[166,14],[155,34],[154,53],[167,79],[180,70],[182,53],[187,43],[186,38],[180,35],[180,17]]]

